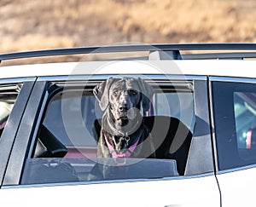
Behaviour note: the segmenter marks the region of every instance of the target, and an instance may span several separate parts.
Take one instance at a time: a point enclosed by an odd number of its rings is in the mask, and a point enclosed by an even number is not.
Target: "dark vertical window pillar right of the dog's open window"
[[[195,129],[192,137],[185,175],[214,175],[216,172],[212,143],[212,124],[208,78],[194,79]],[[203,146],[203,147],[202,147]],[[201,149],[199,151],[198,149]]]

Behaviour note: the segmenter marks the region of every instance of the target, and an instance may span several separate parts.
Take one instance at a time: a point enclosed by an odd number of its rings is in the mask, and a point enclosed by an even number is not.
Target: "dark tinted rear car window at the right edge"
[[[256,85],[216,82],[212,86],[220,170],[256,164]]]

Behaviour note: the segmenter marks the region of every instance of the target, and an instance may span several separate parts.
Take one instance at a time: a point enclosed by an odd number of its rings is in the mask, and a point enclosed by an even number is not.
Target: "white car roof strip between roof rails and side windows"
[[[176,74],[256,78],[256,60],[115,60],[0,67],[0,78],[93,74]],[[120,67],[120,64],[122,65]],[[109,70],[111,66],[111,70]],[[132,67],[131,67],[132,66]],[[241,70],[243,71],[241,73]]]

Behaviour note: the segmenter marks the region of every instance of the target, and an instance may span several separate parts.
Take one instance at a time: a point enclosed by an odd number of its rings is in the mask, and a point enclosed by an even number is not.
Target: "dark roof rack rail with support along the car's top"
[[[199,53],[181,55],[181,50],[254,50],[242,53]],[[84,47],[67,49],[43,49],[27,52],[15,52],[0,55],[2,60],[14,60],[22,58],[43,57],[53,55],[79,55],[90,53],[114,53],[114,52],[141,52],[148,51],[149,60],[198,60],[198,59],[244,59],[256,58],[256,43],[178,43],[178,44],[131,44],[103,47]]]

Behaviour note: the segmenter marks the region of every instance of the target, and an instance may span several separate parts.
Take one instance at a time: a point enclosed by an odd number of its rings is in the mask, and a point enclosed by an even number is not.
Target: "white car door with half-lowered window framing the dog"
[[[38,202],[61,206],[220,206],[205,77],[147,76],[155,91],[149,117],[161,120],[160,129],[172,120],[166,125],[165,139],[174,135],[168,149],[173,158],[132,159],[137,163],[127,168],[117,166],[112,177],[90,176],[98,162],[92,129],[95,120],[102,117],[92,89],[108,77],[38,79],[9,158],[1,202],[32,200],[26,206]],[[169,127],[174,128],[176,122],[177,129],[170,133]],[[158,133],[154,135],[163,131]]]

